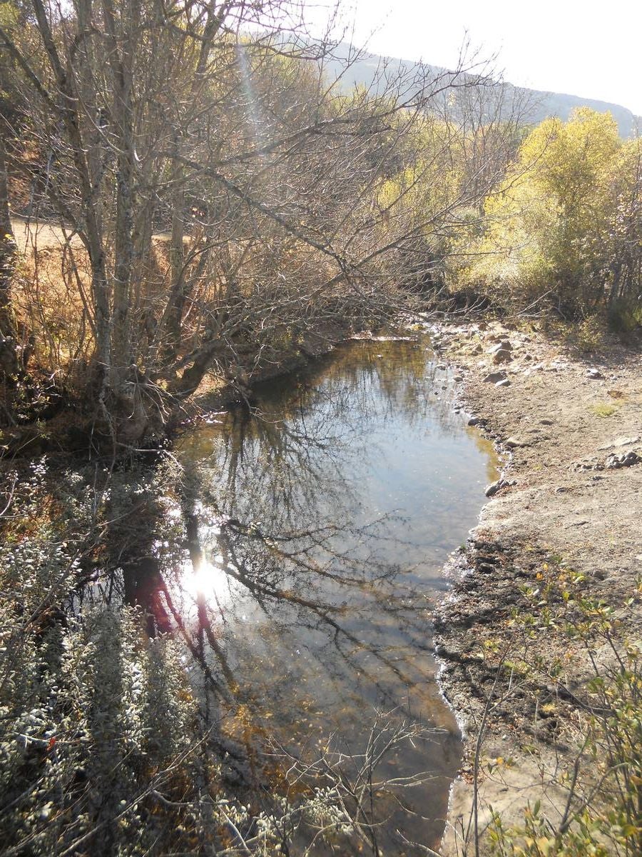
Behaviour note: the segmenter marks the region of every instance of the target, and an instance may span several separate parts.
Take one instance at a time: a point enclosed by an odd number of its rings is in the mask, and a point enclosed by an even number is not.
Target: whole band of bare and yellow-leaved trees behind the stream
[[[527,131],[465,58],[347,90],[276,0],[3,3],[0,38],[5,425],[81,401],[122,452],[449,294],[639,324],[641,150],[607,115]]]

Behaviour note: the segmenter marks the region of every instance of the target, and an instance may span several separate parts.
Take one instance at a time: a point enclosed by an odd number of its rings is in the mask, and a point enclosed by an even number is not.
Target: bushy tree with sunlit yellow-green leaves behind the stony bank
[[[567,123],[545,119],[486,200],[468,277],[503,303],[550,297],[563,315],[594,311],[621,291],[618,236],[630,244],[639,235],[639,206],[627,204],[638,191],[639,141],[623,143],[609,113],[582,107]]]

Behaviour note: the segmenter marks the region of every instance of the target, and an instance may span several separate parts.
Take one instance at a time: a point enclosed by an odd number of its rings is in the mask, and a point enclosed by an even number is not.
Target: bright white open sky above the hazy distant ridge
[[[342,26],[353,24],[372,53],[445,67],[467,31],[511,83],[642,116],[642,0],[344,0]]]

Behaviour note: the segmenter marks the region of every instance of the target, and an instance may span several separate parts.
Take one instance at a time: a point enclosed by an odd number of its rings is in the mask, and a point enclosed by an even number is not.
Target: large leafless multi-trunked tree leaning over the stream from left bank
[[[161,433],[211,369],[242,392],[308,333],[389,317],[426,233],[483,193],[477,171],[423,216],[403,213],[404,183],[382,203],[426,160],[426,111],[488,82],[463,63],[382,66],[347,93],[324,74],[332,46],[303,38],[305,9],[293,20],[282,0],[32,8],[21,32],[0,28],[29,105],[31,151],[12,167],[33,181],[47,165],[94,345],[80,387],[117,444]],[[413,185],[466,133],[446,124]]]

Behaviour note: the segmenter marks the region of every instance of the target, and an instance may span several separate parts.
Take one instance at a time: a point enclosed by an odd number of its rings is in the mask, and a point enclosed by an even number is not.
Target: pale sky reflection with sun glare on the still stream
[[[185,566],[183,610],[190,621],[206,612],[208,659],[224,659],[244,701],[292,746],[331,732],[359,746],[373,706],[443,728],[389,768],[443,777],[413,793],[434,819],[459,747],[434,683],[430,599],[495,470],[429,357],[422,343],[345,346],[265,386],[260,418],[237,411],[185,438],[181,458],[198,485],[203,548]],[[393,821],[424,842],[438,835],[422,818]]]

